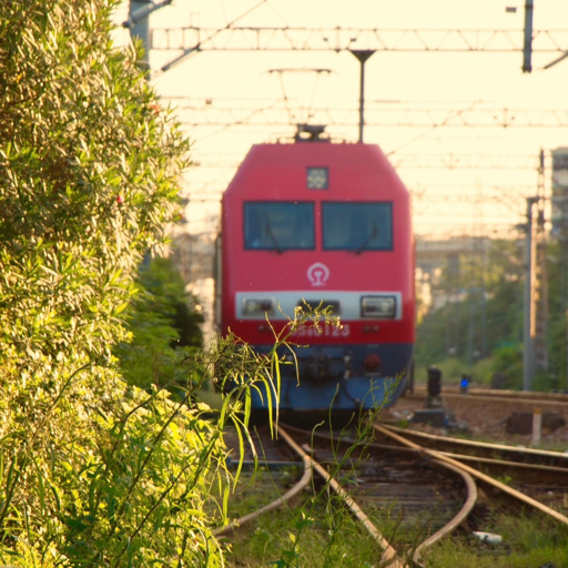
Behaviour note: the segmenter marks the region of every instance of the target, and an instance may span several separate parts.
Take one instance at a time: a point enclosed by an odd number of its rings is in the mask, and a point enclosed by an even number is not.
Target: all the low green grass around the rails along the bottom
[[[266,474],[265,474],[266,475]],[[242,515],[265,504],[268,486],[261,480],[245,490],[232,513]],[[281,484],[282,480],[274,483]],[[366,568],[379,567],[382,550],[367,531],[332,496],[305,494],[295,508],[282,508],[261,517],[224,540],[227,568]],[[481,516],[474,515],[468,528],[443,539],[423,554],[427,568],[561,568],[568,566],[568,527],[531,511],[511,515],[490,501]],[[404,541],[406,559],[426,537],[426,526],[404,526],[393,511],[375,509],[371,520],[387,540]],[[434,514],[435,515],[435,514]],[[427,525],[428,519],[425,519]],[[474,528],[475,527],[475,528]],[[503,537],[490,545],[473,531]],[[395,540],[396,539],[396,540]]]

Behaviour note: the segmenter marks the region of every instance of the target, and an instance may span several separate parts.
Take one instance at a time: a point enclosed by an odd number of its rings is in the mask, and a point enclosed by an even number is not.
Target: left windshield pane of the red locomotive
[[[314,248],[314,204],[248,202],[244,204],[244,247],[261,251]]]

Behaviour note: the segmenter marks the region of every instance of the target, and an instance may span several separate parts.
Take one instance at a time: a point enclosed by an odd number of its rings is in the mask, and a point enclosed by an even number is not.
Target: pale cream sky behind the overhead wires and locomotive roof
[[[221,29],[253,9],[236,26],[302,28],[378,28],[399,30],[516,30],[523,37],[524,2],[510,0],[174,0],[172,7],[155,12],[152,29],[199,26]],[[125,2],[124,7],[128,7]],[[256,8],[255,8],[256,7]],[[516,7],[517,13],[506,13]],[[116,16],[118,21],[124,13]],[[535,32],[568,30],[566,0],[535,0]],[[558,34],[568,49],[568,32]],[[158,71],[179,51],[152,51],[151,67]],[[436,116],[449,110],[465,112],[470,124],[495,110],[530,111],[531,120],[545,120],[545,112],[562,111],[568,120],[568,59],[551,69],[541,68],[558,53],[535,53],[532,73],[521,72],[520,52],[439,53],[377,52],[366,64],[367,120],[409,120],[412,113],[432,111]],[[302,72],[270,73],[274,69]],[[327,69],[328,74],[308,71]],[[317,78],[317,79],[316,79]],[[185,183],[187,195],[212,200],[190,205],[190,231],[214,231],[215,200],[230,182],[235,168],[254,143],[290,136],[291,122],[305,120],[288,106],[311,106],[314,111],[335,109],[333,116],[351,116],[346,125],[329,125],[335,138],[356,141],[358,134],[359,64],[348,52],[333,51],[203,51],[170,71],[155,74],[153,84],[164,98],[174,98],[180,120],[203,122],[227,113],[254,115],[241,125],[187,126],[193,140],[193,168]],[[207,101],[207,103],[205,102]],[[191,106],[194,110],[187,110]],[[273,106],[266,125],[258,108]],[[373,114],[375,110],[375,114]],[[479,115],[473,111],[483,111]],[[339,112],[341,111],[341,112]],[[387,112],[388,111],[388,112]],[[542,112],[542,118],[537,111]],[[485,114],[484,114],[485,113]],[[489,114],[488,114],[489,113]],[[321,116],[318,116],[321,118]],[[496,119],[497,122],[497,119]],[[414,195],[417,234],[428,237],[475,234],[491,236],[509,232],[521,221],[525,199],[536,193],[537,174],[530,169],[542,148],[568,146],[567,128],[489,128],[368,125],[365,142],[378,144],[390,155]],[[455,155],[460,163],[477,168],[424,168],[447,163]],[[507,159],[507,156],[513,156]],[[532,160],[532,156],[534,160]],[[466,159],[466,161],[464,161]],[[531,161],[532,160],[532,161]],[[525,168],[510,168],[529,164]],[[499,164],[509,168],[495,168]],[[419,165],[419,166],[418,166]],[[489,165],[494,165],[489,168]]]

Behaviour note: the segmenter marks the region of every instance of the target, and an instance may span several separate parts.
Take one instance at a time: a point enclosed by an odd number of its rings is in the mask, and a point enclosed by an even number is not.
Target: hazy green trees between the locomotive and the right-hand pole
[[[477,358],[523,339],[524,251],[514,241],[493,241],[477,257],[459,257],[442,270],[437,291],[447,302],[430,310],[417,327],[418,366],[457,357],[471,372]],[[508,353],[508,352],[507,352]],[[501,358],[494,372],[505,372]],[[504,363],[505,364],[505,363]],[[518,372],[518,365],[506,365]]]

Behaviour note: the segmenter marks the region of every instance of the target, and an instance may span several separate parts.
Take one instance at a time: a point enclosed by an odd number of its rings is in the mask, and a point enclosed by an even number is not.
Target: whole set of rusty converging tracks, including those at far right
[[[277,467],[278,455],[285,456],[287,464],[303,464],[301,479],[298,478],[297,484],[284,495],[278,495],[258,511],[234,521],[222,534],[245,527],[258,515],[290,504],[291,499],[306,491],[308,487],[315,486],[324,486],[333,490],[376,540],[383,550],[376,559],[377,566],[424,566],[423,557],[428,546],[466,521],[476,506],[477,484],[484,488],[490,487],[491,490],[498,490],[521,506],[536,508],[557,523],[568,526],[568,518],[558,510],[558,507],[556,509],[552,508],[554,505],[548,507],[544,503],[546,499],[542,498],[550,493],[542,483],[542,473],[547,471],[547,476],[550,475],[547,477],[549,484],[554,476],[557,476],[557,481],[568,477],[566,475],[568,459],[555,456],[559,463],[564,464],[555,466],[531,464],[526,456],[519,459],[518,456],[523,453],[520,448],[514,448],[513,454],[507,454],[510,450],[505,449],[506,447],[503,452],[509,458],[515,455],[515,460],[479,455],[468,456],[464,452],[456,454],[418,445],[414,442],[415,433],[406,437],[409,434],[407,430],[383,426],[374,426],[374,428],[379,439],[386,437],[389,443],[356,442],[345,433],[341,437],[332,437],[291,426],[281,426],[278,429],[281,444],[275,445],[266,437],[263,440],[265,448],[263,453],[275,459],[267,462],[266,466]],[[413,439],[409,439],[410,437]],[[429,442],[435,442],[439,448],[442,440],[435,438],[440,437],[432,436],[432,438],[434,439]],[[427,442],[427,438],[420,439],[423,443]],[[501,449],[486,447],[490,446],[487,444],[479,446],[484,452]],[[290,460],[291,452],[295,454],[296,462]],[[548,454],[552,453],[527,452],[530,459],[537,462],[544,457],[549,458]],[[506,471],[515,467],[523,471],[515,481],[517,488],[496,481],[484,473],[490,464],[497,462],[501,462],[500,467],[506,468]],[[476,467],[471,467],[473,464]],[[535,467],[538,474],[534,474]],[[530,477],[529,471],[532,471],[530,475],[534,479],[540,476],[540,481],[532,481],[531,486],[527,481]],[[321,480],[315,483],[312,480],[312,475]],[[566,486],[566,481],[564,484],[561,487]],[[540,494],[536,490],[538,488]],[[390,525],[384,523],[385,517],[390,520]],[[386,534],[384,529],[382,532],[378,528],[376,519],[379,518],[383,519],[379,524],[382,527],[389,527]],[[409,537],[410,534],[412,537]],[[420,535],[420,542],[416,542],[416,534]]]

